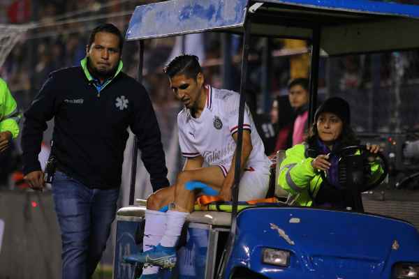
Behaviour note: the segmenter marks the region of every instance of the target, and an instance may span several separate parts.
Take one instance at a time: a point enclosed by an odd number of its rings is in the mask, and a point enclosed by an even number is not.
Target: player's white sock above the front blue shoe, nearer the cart
[[[164,232],[160,245],[164,247],[175,247],[189,213],[169,210],[166,214],[166,232]]]

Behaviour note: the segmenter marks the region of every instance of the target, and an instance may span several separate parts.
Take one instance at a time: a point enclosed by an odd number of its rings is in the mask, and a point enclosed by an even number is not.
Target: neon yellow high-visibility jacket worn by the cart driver
[[[308,190],[314,193],[313,195],[316,197],[323,182],[320,172],[316,172],[311,167],[314,158],[305,156],[306,148],[307,144],[297,144],[286,150],[286,157],[281,163],[277,181],[277,187],[281,187],[291,195],[297,196],[295,203],[300,206],[311,206],[313,204]],[[372,172],[370,181],[374,182],[381,176],[383,169],[376,162],[370,163],[370,168]]]

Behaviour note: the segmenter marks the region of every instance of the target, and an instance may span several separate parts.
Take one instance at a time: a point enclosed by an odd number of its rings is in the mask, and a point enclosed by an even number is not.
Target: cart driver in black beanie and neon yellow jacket
[[[337,156],[332,151],[345,146],[358,145],[359,140],[350,126],[351,114],[346,100],[329,98],[318,107],[307,141],[286,150],[281,163],[277,187],[295,196],[300,206],[344,207],[344,190],[339,185]],[[378,145],[367,145],[371,153]],[[312,155],[309,150],[315,150]],[[313,158],[314,157],[314,158]],[[370,181],[376,181],[383,169],[375,161],[370,163]],[[323,181],[321,172],[327,172],[329,182]]]

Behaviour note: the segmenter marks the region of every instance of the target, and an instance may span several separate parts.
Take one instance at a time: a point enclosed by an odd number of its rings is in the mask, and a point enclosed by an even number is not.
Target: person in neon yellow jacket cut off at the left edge
[[[19,135],[20,112],[8,86],[0,78],[0,153]]]

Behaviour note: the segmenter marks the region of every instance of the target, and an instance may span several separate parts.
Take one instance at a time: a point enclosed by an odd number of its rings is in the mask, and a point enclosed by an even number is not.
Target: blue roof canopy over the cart
[[[419,6],[367,0],[171,0],[138,6],[126,40],[204,31],[311,40],[320,27],[328,55],[419,47]]]

